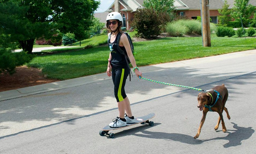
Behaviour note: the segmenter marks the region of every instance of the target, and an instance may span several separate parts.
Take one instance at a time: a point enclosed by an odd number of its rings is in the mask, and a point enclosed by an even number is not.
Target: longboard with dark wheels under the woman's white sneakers
[[[154,118],[154,116],[155,116],[155,113],[149,113],[146,116],[135,118],[134,123],[127,123],[127,125],[123,126],[123,127],[112,128],[109,125],[107,125],[104,128],[102,128],[102,130],[99,131],[99,135],[101,135],[101,136],[109,135],[110,138],[114,138],[115,135],[114,135],[114,133],[109,133],[110,130],[117,130],[117,129],[127,128],[129,126],[136,125],[136,124],[139,124],[139,123],[141,123],[141,124],[148,123],[149,126],[153,126],[154,122],[149,121],[149,119]]]

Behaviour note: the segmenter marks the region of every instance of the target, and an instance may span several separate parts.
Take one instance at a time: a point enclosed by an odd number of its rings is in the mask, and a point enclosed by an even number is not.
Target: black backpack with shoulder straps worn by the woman
[[[130,43],[130,46],[131,46],[132,54],[134,55],[134,46],[133,46],[133,43],[132,43],[132,38],[131,38],[131,36],[130,36],[127,32],[123,32],[123,33],[127,36],[128,40],[129,40],[129,43]],[[112,33],[111,33],[111,34],[112,34]],[[111,44],[111,43],[110,43],[111,34],[110,34],[109,37],[108,37],[108,45]],[[117,50],[125,56],[126,63],[127,63],[127,65],[129,66],[129,63],[131,63],[131,62],[130,62],[130,60],[129,60],[129,57],[128,57],[128,55],[127,55],[127,52],[124,52],[124,51],[120,48],[120,46],[119,46],[119,41],[120,41],[121,35],[122,35],[122,33],[118,33],[118,34],[117,34],[117,43],[116,43],[116,44],[117,44]],[[129,68],[130,68],[130,66],[129,66]],[[131,72],[132,72],[132,71],[131,71],[131,69],[130,69],[130,72],[129,72],[130,81],[131,81]],[[132,75],[132,77],[133,77],[133,75]]]

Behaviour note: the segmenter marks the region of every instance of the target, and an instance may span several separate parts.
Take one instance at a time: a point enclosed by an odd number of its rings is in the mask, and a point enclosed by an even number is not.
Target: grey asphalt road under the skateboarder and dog
[[[0,153],[255,153],[255,68],[256,50],[140,68],[143,77],[166,83],[204,90],[225,84],[231,117],[223,113],[226,133],[221,125],[214,130],[218,114],[208,112],[199,138],[193,138],[202,117],[199,91],[133,77],[126,84],[133,114],[155,113],[154,126],[115,130],[115,138],[100,136],[118,115],[106,75],[0,101]]]

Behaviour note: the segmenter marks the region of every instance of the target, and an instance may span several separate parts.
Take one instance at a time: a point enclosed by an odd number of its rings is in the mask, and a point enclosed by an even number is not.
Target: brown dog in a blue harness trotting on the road
[[[230,120],[229,113],[227,111],[227,108],[225,107],[225,103],[227,101],[228,97],[228,91],[224,84],[221,86],[216,86],[212,88],[211,90],[206,91],[206,93],[199,93],[197,96],[197,107],[200,109],[200,111],[203,111],[203,116],[201,119],[201,123],[199,125],[199,128],[197,130],[197,134],[194,138],[198,138],[199,134],[201,132],[201,128],[205,122],[206,113],[208,111],[214,111],[219,113],[219,119],[217,122],[217,125],[215,126],[214,130],[217,130],[220,125],[220,120],[222,124],[222,131],[226,132],[226,126],[223,120],[222,112],[223,110],[227,113],[227,118]]]

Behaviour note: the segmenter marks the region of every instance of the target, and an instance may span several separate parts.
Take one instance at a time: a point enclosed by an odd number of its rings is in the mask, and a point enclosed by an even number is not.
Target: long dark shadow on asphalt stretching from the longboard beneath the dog
[[[135,136],[139,137],[146,137],[146,138],[156,138],[156,139],[166,139],[166,140],[172,140],[172,141],[178,141],[181,143],[187,143],[187,144],[201,144],[203,142],[207,142],[210,140],[228,140],[229,142],[224,144],[224,148],[229,148],[237,145],[241,145],[242,140],[246,140],[252,136],[254,133],[254,130],[252,127],[239,127],[237,124],[232,123],[236,130],[227,130],[228,135],[225,137],[217,137],[212,138],[209,140],[199,140],[194,139],[194,137],[179,133],[162,133],[162,132],[151,132],[147,130],[142,130],[141,132],[143,134],[133,134]]]

